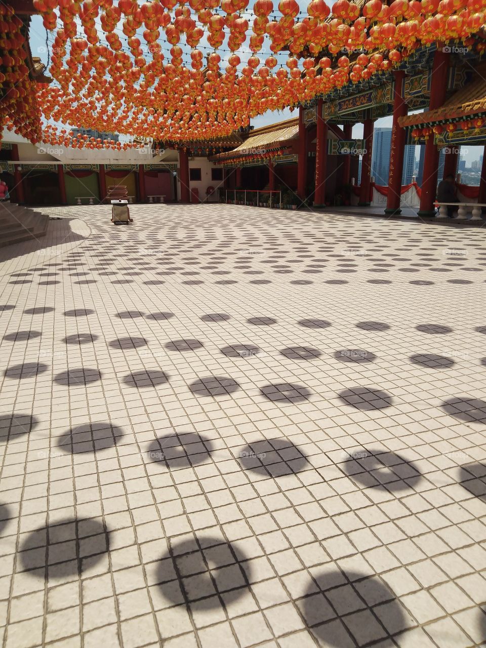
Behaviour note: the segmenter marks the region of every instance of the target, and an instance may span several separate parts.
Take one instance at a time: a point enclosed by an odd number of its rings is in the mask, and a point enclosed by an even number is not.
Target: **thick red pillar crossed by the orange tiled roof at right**
[[[440,108],[445,102],[447,76],[449,71],[449,54],[438,43],[432,64],[430,76],[429,110]],[[422,178],[422,196],[419,216],[432,218],[435,216],[434,202],[437,193],[437,174],[439,172],[439,150],[435,146],[434,133],[426,141],[424,154],[424,174]]]

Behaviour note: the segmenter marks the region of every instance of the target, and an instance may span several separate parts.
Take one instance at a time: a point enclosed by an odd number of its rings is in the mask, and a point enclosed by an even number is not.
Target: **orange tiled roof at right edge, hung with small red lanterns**
[[[457,121],[486,113],[485,76],[486,64],[482,64],[476,68],[476,77],[469,84],[457,90],[452,97],[445,101],[441,108],[400,117],[400,126],[421,126],[422,124]]]

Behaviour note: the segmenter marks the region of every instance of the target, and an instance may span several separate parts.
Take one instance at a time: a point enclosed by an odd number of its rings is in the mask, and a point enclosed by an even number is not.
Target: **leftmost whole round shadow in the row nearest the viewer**
[[[80,576],[102,561],[107,551],[110,532],[100,520],[64,518],[31,531],[18,556],[22,571],[47,581]]]

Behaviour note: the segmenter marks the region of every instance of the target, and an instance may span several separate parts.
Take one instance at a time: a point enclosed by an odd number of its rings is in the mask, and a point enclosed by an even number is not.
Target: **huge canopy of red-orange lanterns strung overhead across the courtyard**
[[[221,139],[267,110],[386,73],[422,45],[467,41],[486,17],[483,0],[368,0],[362,10],[337,0],[331,15],[325,0],[310,0],[303,19],[296,0],[34,6],[53,36],[54,84],[37,88],[47,121],[177,143]],[[214,51],[203,54],[202,42]],[[264,46],[272,54],[260,58]]]

